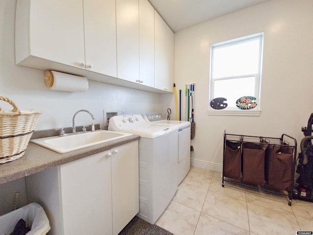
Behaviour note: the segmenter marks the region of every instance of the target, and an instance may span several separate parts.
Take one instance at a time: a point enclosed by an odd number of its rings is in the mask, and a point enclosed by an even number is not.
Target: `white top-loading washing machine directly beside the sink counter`
[[[110,118],[108,130],[140,136],[137,216],[154,224],[178,188],[178,129],[149,124],[141,115],[119,115]]]

